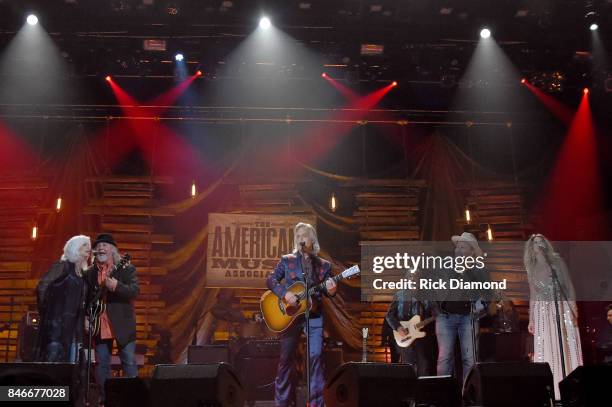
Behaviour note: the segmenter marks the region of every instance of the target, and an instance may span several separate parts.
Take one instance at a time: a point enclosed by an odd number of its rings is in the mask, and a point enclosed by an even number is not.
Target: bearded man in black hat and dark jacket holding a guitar
[[[117,341],[119,358],[124,377],[138,374],[136,364],[136,317],[133,301],[138,296],[138,277],[132,264],[117,270],[116,276],[110,274],[121,260],[117,243],[112,235],[98,235],[93,245],[95,261],[88,276],[88,284],[96,293],[106,287],[103,300],[106,311],[100,316],[100,333],[94,338],[96,345],[96,381],[104,400],[104,383],[111,377],[111,354],[113,342]]]

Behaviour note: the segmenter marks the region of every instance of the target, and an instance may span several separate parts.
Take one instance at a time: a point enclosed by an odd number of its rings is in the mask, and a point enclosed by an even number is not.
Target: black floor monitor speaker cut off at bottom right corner
[[[612,365],[579,366],[559,383],[563,407],[601,406],[611,400]]]

